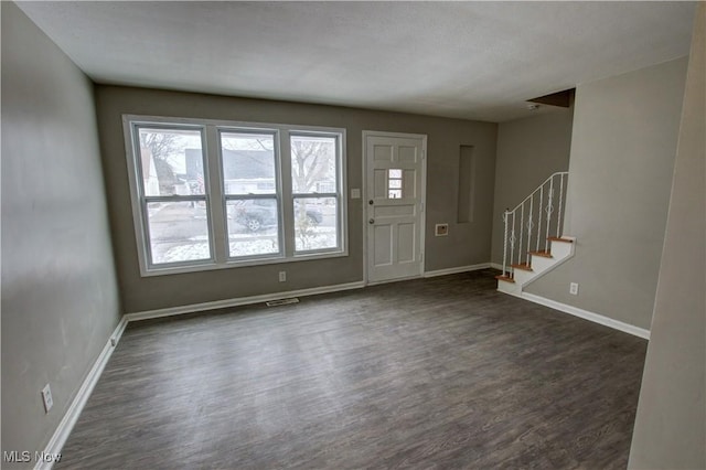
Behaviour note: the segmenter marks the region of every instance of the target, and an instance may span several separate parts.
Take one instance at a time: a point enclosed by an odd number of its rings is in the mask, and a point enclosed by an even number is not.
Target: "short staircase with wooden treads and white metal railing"
[[[503,273],[498,290],[521,296],[523,288],[574,256],[576,239],[563,235],[568,172],[557,172],[512,211],[503,213]]]

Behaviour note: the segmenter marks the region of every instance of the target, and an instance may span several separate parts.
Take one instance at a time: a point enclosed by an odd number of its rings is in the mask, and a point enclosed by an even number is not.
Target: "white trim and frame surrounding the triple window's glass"
[[[147,214],[142,206],[141,184],[139,183],[139,170],[137,169],[136,138],[133,130],[137,126],[154,125],[158,127],[189,127],[203,129],[202,146],[204,149],[204,186],[206,188],[206,207],[208,213],[208,236],[211,237],[211,259],[181,261],[169,265],[150,265],[150,248],[148,238]],[[346,130],[344,128],[297,126],[286,124],[228,121],[216,119],[195,119],[183,117],[122,115],[122,130],[125,137],[126,161],[130,186],[130,200],[132,206],[132,221],[137,242],[138,261],[142,277],[162,276],[171,274],[197,273],[214,269],[231,269],[247,266],[269,264],[296,263],[301,260],[335,258],[349,255],[347,229],[347,178],[346,178]],[[239,130],[256,132],[274,132],[277,171],[277,199],[280,207],[280,253],[276,255],[255,255],[252,257],[231,258],[228,253],[227,221],[225,206],[225,189],[223,188],[222,152],[218,141],[221,131]],[[293,204],[293,199],[299,196],[291,192],[290,146],[291,135],[335,136],[340,156],[338,164],[338,193],[304,193],[311,197],[336,197],[336,248],[318,250],[295,250],[293,218],[284,209],[287,204]],[[285,157],[286,156],[286,157]],[[206,170],[207,169],[207,170]]]

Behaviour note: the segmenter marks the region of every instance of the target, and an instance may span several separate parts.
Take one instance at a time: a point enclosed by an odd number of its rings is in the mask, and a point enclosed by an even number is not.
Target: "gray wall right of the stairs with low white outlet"
[[[577,237],[576,256],[528,292],[650,328],[686,64],[577,87],[564,232]]]

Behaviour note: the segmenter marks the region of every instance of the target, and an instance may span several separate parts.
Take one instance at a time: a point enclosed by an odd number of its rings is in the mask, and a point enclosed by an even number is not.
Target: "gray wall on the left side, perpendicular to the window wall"
[[[93,85],[14,3],[1,9],[2,450],[33,457],[120,309]]]

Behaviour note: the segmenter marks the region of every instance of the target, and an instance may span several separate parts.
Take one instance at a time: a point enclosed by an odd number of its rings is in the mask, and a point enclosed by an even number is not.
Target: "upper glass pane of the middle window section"
[[[221,132],[226,194],[274,194],[275,136]]]

